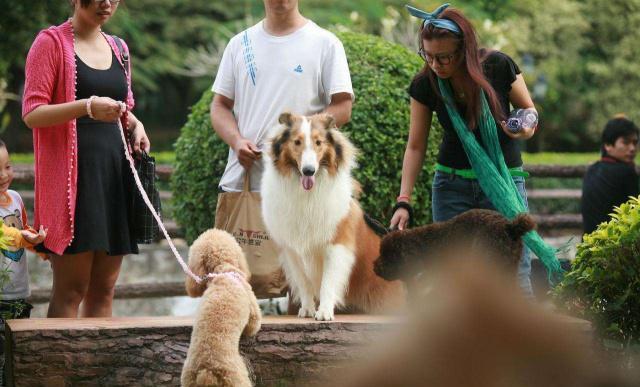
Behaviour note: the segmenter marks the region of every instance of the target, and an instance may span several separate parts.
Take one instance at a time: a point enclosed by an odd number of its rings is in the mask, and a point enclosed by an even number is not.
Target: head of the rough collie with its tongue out
[[[321,168],[335,175],[349,161],[351,144],[337,130],[333,116],[282,113],[279,122],[283,128],[272,141],[273,163],[282,175],[299,175],[306,191],[313,188]]]

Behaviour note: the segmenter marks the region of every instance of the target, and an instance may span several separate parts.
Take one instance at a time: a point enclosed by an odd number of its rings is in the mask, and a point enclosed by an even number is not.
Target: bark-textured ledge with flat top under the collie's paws
[[[400,323],[398,317],[341,315],[333,322],[265,317],[240,349],[258,386],[319,381],[363,356],[359,349]],[[178,386],[192,317],[9,320],[9,386]],[[284,383],[284,384],[283,384]]]

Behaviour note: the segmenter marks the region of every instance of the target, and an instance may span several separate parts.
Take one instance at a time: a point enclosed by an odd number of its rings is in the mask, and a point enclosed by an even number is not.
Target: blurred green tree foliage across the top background
[[[407,22],[412,18],[404,3],[305,0],[300,7],[323,27],[339,25],[381,34],[415,49],[417,30]],[[409,3],[431,10],[441,2]],[[532,91],[547,85],[546,94],[537,95],[535,101],[541,126],[527,141],[528,150],[597,149],[598,134],[612,115],[626,113],[640,120],[636,109],[640,103],[640,0],[460,0],[453,5],[473,19],[485,45],[516,58]],[[386,30],[390,12],[400,15],[395,34]],[[6,88],[0,86],[0,105],[7,96],[20,93],[24,60],[36,33],[61,23],[69,14],[65,0],[16,1],[3,7],[0,84],[4,78]],[[216,62],[208,54],[219,54],[231,35],[263,15],[263,2],[255,0],[121,3],[105,30],[131,47],[137,113],[148,128],[181,125],[188,107],[211,85],[215,71],[209,70]],[[209,67],[185,71],[198,56],[208,56]],[[9,137],[25,137],[27,143],[30,136],[23,130],[14,100],[7,104],[13,117]],[[0,128],[7,122],[5,114]]]

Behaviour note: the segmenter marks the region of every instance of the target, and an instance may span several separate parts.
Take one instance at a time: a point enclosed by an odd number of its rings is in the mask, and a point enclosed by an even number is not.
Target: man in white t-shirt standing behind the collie
[[[213,83],[211,123],[229,147],[220,180],[241,191],[246,170],[259,191],[263,144],[282,112],[332,114],[349,121],[353,88],[340,40],[305,19],[298,1],[264,0],[266,18],[234,36]]]

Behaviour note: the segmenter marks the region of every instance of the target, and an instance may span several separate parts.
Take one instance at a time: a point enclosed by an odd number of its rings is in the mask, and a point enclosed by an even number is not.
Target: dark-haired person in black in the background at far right
[[[638,127],[624,116],[611,119],[602,131],[602,157],[588,169],[582,182],[582,228],[593,232],[610,220],[613,208],[638,196],[635,158]]]

